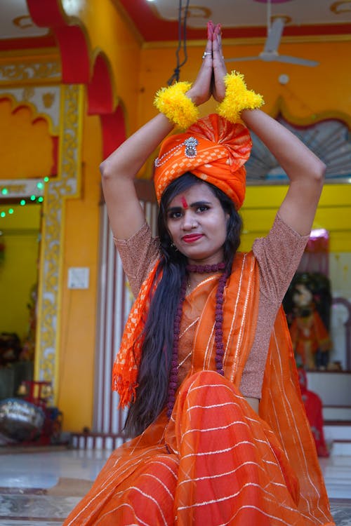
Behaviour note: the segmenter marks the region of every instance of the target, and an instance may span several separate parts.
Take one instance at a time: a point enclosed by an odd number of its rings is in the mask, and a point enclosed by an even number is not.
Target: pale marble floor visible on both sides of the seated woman
[[[62,525],[84,494],[84,484],[87,488],[88,481],[95,479],[110,454],[65,448],[21,453],[0,449],[0,526]],[[321,466],[336,526],[351,526],[351,457],[321,459]],[[83,486],[74,479],[82,480]]]

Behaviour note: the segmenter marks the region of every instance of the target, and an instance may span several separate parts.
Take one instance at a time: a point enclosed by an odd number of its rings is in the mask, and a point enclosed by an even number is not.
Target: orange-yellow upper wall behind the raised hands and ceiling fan
[[[235,45],[224,41],[225,58],[257,55],[262,44]],[[188,61],[181,69],[180,80],[193,81],[201,65],[204,43],[192,44],[188,48]],[[176,65],[176,49],[170,46],[148,45],[143,49],[140,95],[143,108],[140,119],[145,121],[154,115],[152,100],[155,90],[165,86]],[[245,74],[246,83],[265,97],[265,112],[274,114],[277,101],[282,97],[286,114],[296,123],[310,122],[314,116],[333,112],[347,117],[351,125],[351,73],[345,68],[351,52],[348,41],[315,41],[309,43],[282,43],[279,53],[296,55],[318,60],[318,67],[303,67],[279,62],[234,62],[227,63],[227,69],[239,69]],[[288,74],[289,83],[279,83],[279,75]],[[205,107],[204,107],[205,108]],[[207,104],[204,113],[214,109]]]

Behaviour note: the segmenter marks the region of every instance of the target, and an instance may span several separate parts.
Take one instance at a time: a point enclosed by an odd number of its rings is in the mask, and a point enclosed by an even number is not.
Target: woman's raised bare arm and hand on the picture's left
[[[206,56],[197,79],[186,93],[197,106],[211,96],[212,38],[208,36]],[[102,190],[114,237],[128,239],[145,222],[145,215],[135,192],[134,179],[147,158],[173,129],[164,114],[147,122],[100,165]]]

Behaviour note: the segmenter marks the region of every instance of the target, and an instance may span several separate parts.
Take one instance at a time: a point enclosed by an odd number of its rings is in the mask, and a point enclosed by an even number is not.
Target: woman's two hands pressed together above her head
[[[197,79],[187,92],[192,102],[199,106],[213,96],[218,102],[225,97],[223,78],[227,73],[222,50],[222,32],[220,24],[212,20],[207,24],[207,43]]]

